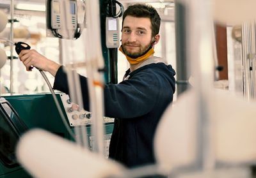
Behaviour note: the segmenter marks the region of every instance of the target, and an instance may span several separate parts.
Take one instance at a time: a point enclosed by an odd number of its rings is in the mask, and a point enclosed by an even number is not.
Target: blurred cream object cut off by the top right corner
[[[214,20],[222,24],[238,25],[255,20],[255,0],[214,0]]]

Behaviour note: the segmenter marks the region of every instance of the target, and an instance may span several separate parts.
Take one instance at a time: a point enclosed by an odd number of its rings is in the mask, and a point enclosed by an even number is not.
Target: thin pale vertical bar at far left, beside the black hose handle
[[[13,41],[13,17],[14,17],[14,0],[10,4],[11,13],[11,27],[10,27],[10,41]],[[10,44],[10,93],[13,94],[13,44]]]

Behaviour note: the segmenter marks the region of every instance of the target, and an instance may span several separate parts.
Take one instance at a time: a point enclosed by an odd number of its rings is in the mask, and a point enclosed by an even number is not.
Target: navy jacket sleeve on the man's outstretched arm
[[[80,76],[84,109],[89,110],[87,78]],[[54,89],[69,94],[67,74],[61,67],[55,76]],[[159,95],[157,78],[150,73],[138,73],[120,84],[104,86],[105,115],[108,117],[131,118],[147,114],[154,107]]]

